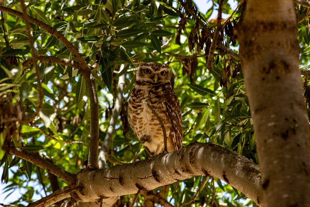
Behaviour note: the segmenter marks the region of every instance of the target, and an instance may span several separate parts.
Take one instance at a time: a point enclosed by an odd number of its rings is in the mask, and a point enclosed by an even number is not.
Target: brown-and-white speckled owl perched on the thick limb
[[[180,102],[171,88],[170,80],[170,70],[165,64],[141,64],[130,94],[130,126],[152,156],[164,151],[162,124],[168,138],[167,151],[173,152],[182,148]]]

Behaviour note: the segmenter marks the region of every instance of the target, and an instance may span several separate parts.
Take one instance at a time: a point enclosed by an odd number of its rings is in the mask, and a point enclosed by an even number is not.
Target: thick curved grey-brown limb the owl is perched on
[[[151,191],[159,186],[198,175],[219,177],[248,198],[264,206],[260,168],[252,161],[212,143],[191,143],[152,159],[80,172],[78,196],[87,202],[99,198]]]

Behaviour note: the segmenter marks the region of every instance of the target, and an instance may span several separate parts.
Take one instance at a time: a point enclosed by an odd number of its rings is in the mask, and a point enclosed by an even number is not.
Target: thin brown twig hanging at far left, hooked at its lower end
[[[32,52],[33,66],[34,66],[35,73],[37,76],[37,84],[38,84],[37,89],[38,89],[38,94],[39,94],[39,103],[38,103],[38,106],[37,106],[35,112],[30,117],[23,118],[23,122],[27,123],[27,122],[33,120],[35,117],[37,117],[39,115],[40,111],[42,110],[44,94],[43,94],[43,88],[41,85],[40,70],[39,70],[38,63],[37,63],[38,53],[34,48],[34,41],[33,41],[32,35],[31,35],[31,26],[29,23],[29,16],[27,15],[27,7],[25,5],[24,0],[20,0],[20,4],[21,4],[22,10],[23,10],[23,18],[24,18],[25,23],[26,23],[26,30],[28,33],[29,43],[30,43],[31,52]]]

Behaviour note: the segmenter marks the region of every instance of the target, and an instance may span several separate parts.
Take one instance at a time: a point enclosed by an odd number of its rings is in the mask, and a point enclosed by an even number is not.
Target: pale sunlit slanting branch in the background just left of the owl
[[[124,69],[124,64],[121,65],[120,71]],[[122,104],[123,104],[123,92],[124,92],[124,85],[125,85],[125,77],[126,73],[124,73],[122,76],[120,76],[118,80],[118,91],[116,94],[115,104],[114,104],[114,110],[112,117],[110,119],[109,127],[107,130],[107,134],[105,137],[105,140],[102,143],[100,152],[99,152],[99,168],[105,168],[107,167],[107,160],[109,157],[109,146],[113,137],[113,133],[115,131],[115,125],[117,122],[117,117],[120,115]]]

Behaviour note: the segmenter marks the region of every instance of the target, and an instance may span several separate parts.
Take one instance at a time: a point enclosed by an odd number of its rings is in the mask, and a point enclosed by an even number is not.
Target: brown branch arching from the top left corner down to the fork
[[[5,6],[1,6],[0,5],[0,11],[3,12],[7,12],[11,15],[17,16],[19,18],[25,19],[23,13],[18,12],[14,9],[10,9],[8,7]],[[50,34],[52,34],[54,37],[56,37],[59,41],[62,42],[62,44],[69,49],[69,51],[73,54],[73,56],[77,59],[78,63],[80,64],[81,69],[86,70],[89,69],[90,67],[87,65],[87,63],[85,62],[84,58],[78,53],[78,49],[75,48],[71,42],[69,42],[69,40],[67,40],[62,33],[58,32],[55,28],[47,25],[46,23],[44,23],[43,21],[40,21],[38,19],[35,19],[29,15],[27,15],[29,22],[31,22],[32,24],[37,25],[38,27],[41,27],[42,29],[44,29],[45,31],[49,32]]]

